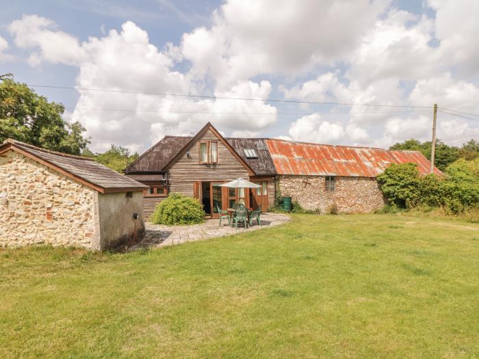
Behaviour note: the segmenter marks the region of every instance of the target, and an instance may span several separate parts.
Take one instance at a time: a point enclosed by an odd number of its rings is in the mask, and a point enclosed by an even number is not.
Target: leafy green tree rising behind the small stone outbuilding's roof
[[[0,77],[0,143],[10,137],[48,150],[79,155],[90,142],[83,137],[86,129],[80,122],[64,121],[61,103],[49,102],[9,75]]]

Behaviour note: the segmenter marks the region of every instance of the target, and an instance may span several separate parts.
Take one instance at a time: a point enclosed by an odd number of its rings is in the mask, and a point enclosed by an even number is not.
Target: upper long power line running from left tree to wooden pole
[[[274,102],[274,103],[307,103],[310,105],[404,107],[404,108],[432,109],[432,106],[378,105],[378,104],[365,104],[365,103],[335,103],[335,102],[322,102],[322,101],[281,100],[281,99],[274,99],[274,98],[246,98],[246,97],[228,97],[228,96],[211,96],[211,95],[194,95],[194,94],[171,94],[167,92],[142,92],[142,91],[132,91],[132,90],[111,90],[111,89],[103,89],[103,88],[72,88],[68,86],[54,86],[54,85],[28,85],[28,86],[31,88],[57,88],[61,90],[117,92],[122,94],[146,94],[146,95],[155,95],[155,96],[211,98],[211,99],[220,99],[220,100],[261,101],[261,102]]]

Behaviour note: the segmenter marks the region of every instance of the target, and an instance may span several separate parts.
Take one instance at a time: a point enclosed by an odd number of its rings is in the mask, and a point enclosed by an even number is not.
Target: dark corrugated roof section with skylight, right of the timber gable
[[[237,154],[244,159],[256,175],[266,176],[276,174],[274,163],[271,159],[266,139],[263,138],[226,138],[229,144],[235,149]],[[246,158],[244,150],[256,150],[257,159]]]

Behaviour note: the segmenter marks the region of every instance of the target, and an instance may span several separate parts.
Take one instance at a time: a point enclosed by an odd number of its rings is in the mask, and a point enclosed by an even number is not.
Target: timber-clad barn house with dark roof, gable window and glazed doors
[[[125,174],[145,185],[144,214],[148,218],[169,192],[198,198],[207,215],[242,202],[263,211],[274,202],[274,164],[264,139],[224,138],[211,123],[194,137],[166,136],[144,152]],[[222,183],[244,178],[259,189],[229,189]]]

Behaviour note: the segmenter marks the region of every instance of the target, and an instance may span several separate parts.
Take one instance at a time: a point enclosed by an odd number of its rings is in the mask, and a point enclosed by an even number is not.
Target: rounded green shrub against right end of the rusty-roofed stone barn
[[[383,194],[396,207],[409,209],[419,201],[421,179],[415,163],[393,163],[377,179]]]

